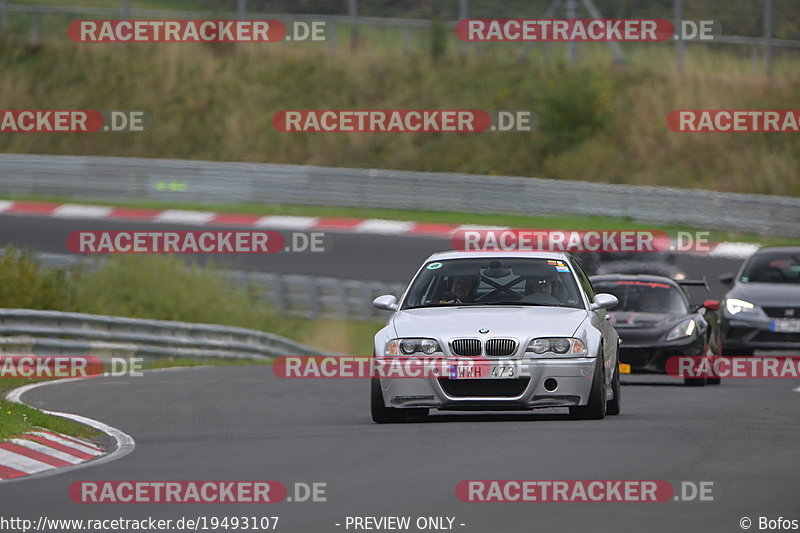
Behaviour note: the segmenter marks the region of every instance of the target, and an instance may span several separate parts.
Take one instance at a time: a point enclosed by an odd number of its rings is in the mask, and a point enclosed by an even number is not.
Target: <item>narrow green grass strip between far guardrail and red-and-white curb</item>
[[[639,222],[629,218],[612,218],[601,216],[524,216],[462,213],[456,211],[414,211],[405,209],[361,209],[357,207],[320,207],[304,205],[279,205],[257,203],[182,203],[175,200],[156,201],[107,201],[107,200],[75,200],[57,196],[13,196],[4,195],[2,199],[16,201],[41,201],[55,203],[75,203],[88,205],[109,205],[116,207],[131,207],[143,209],[188,209],[196,211],[214,211],[217,213],[251,214],[251,215],[297,215],[311,217],[341,217],[341,218],[380,218],[388,220],[410,220],[416,222],[440,224],[483,224],[487,226],[510,226],[521,229],[618,229],[618,230],[659,230],[671,235],[678,231],[708,231],[691,226],[680,225],[654,225]],[[800,238],[765,236],[725,231],[710,231],[709,239],[712,242],[743,241],[753,242],[768,246],[797,245]]]

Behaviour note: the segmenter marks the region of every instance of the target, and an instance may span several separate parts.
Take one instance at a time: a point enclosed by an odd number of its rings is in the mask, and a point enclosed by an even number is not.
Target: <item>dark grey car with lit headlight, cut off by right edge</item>
[[[725,355],[800,350],[800,247],[761,248],[720,281],[731,286],[720,319]]]

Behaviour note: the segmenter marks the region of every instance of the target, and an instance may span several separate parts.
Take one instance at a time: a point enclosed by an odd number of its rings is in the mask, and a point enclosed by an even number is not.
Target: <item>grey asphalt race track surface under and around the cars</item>
[[[70,231],[153,229],[153,224],[0,217],[0,245],[66,252]],[[170,226],[170,229],[196,229]],[[335,234],[325,260],[307,254],[243,255],[238,268],[349,279],[408,281],[442,239]],[[681,256],[690,276],[740,261]],[[279,531],[346,531],[347,516],[455,517],[454,530],[741,531],[743,517],[797,519],[800,394],[796,380],[726,380],[687,388],[667,376],[623,380],[619,416],[574,421],[535,414],[433,414],[376,425],[365,380],[282,380],[269,366],[148,372],[35,389],[24,400],[100,420],[136,441],[118,461],[0,484],[4,516],[177,519],[279,516]],[[465,479],[651,479],[713,482],[713,501],[665,503],[464,503]],[[77,504],[85,480],[275,480],[326,483],[326,502],[274,505]],[[336,524],[341,524],[337,526]],[[461,526],[460,524],[464,524]],[[354,531],[352,528],[349,531]]]

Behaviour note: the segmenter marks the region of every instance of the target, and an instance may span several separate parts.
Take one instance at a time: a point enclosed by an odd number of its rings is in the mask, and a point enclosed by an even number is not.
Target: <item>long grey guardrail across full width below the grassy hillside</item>
[[[179,182],[179,190],[164,190]],[[515,215],[599,215],[800,233],[800,198],[572,180],[177,159],[0,154],[0,194],[261,202]]]

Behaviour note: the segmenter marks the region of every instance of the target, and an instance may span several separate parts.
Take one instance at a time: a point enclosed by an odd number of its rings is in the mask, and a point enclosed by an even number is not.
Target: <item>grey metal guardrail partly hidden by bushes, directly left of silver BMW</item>
[[[103,262],[103,259],[92,260],[70,254],[41,252],[37,254],[37,258],[42,266],[59,269],[68,269],[76,264],[93,269]],[[406,289],[402,283],[299,274],[229,270],[225,271],[225,275],[237,286],[252,291],[276,313],[311,319],[385,320],[388,313],[372,307],[372,300],[382,294],[399,297]]]

